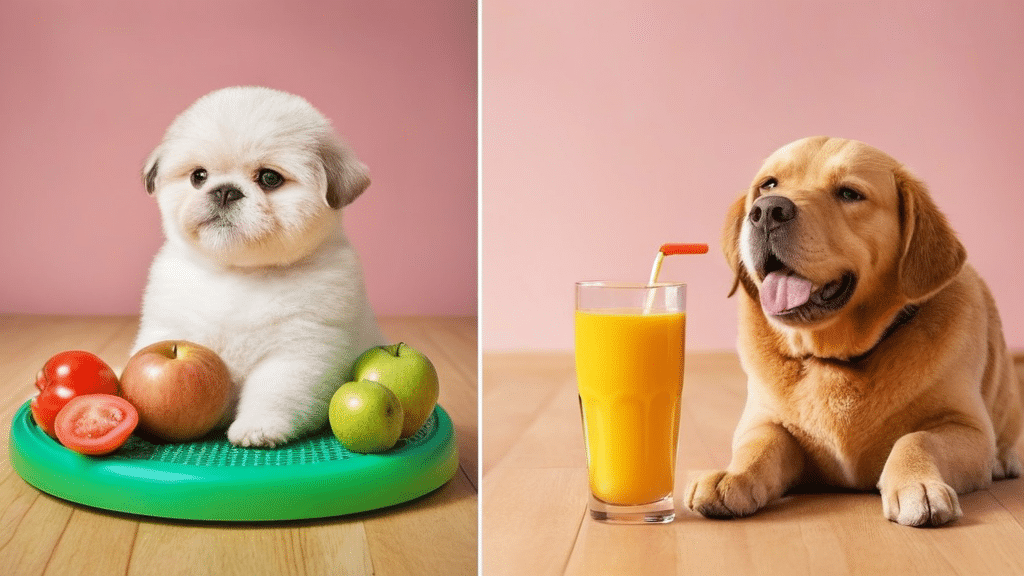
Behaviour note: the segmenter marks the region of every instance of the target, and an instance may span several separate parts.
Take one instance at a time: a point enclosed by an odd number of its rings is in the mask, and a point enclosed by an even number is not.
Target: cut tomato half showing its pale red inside
[[[127,400],[109,394],[76,396],[60,409],[53,427],[57,440],[81,454],[99,456],[121,448],[138,425]]]

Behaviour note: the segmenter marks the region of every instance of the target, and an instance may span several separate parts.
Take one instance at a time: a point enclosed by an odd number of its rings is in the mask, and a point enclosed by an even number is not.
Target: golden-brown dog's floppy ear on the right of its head
[[[902,167],[897,168],[895,176],[903,247],[899,287],[910,301],[921,301],[941,290],[959,273],[967,260],[967,250],[925,183]]]

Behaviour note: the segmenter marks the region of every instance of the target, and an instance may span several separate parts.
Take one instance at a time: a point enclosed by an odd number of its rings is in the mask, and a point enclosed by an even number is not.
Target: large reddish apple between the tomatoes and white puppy
[[[138,410],[138,427],[170,442],[196,440],[224,417],[231,375],[212,349],[186,340],[150,344],[128,360],[121,396]]]

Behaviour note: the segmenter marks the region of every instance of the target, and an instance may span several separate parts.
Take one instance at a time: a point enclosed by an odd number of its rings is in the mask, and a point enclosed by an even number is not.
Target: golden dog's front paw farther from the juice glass
[[[956,491],[938,481],[884,488],[882,512],[903,526],[941,526],[964,516]]]

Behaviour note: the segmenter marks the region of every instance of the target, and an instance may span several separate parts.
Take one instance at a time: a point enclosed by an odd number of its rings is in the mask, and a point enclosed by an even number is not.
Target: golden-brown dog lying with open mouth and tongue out
[[[798,483],[882,493],[904,525],[1017,477],[1021,389],[995,303],[925,186],[862,142],[812,137],[765,161],[723,234],[748,398],[728,469],[690,483],[708,517]],[[735,289],[735,288],[734,288]]]

